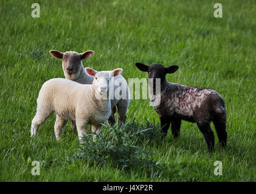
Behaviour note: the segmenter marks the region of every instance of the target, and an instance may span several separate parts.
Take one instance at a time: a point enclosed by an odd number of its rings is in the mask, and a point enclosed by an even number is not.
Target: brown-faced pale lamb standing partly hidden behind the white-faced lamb
[[[61,53],[57,50],[50,50],[50,55],[54,56],[55,58],[62,59],[62,68],[66,79],[70,79],[80,84],[92,84],[93,78],[85,72],[83,63],[81,62],[82,59],[87,59],[94,55],[94,52],[92,50],[88,50],[84,53],[77,53],[71,51]],[[114,98],[111,98],[112,114],[108,119],[108,124],[114,124],[116,122],[114,117],[114,113],[116,112],[119,123],[125,122],[126,112],[130,103],[130,93],[125,78],[123,78],[122,75],[116,76],[115,83],[116,85],[120,83],[121,84],[120,87],[114,88],[114,93],[117,94],[117,90],[122,90],[123,93],[121,95],[121,98],[119,98],[118,94],[114,95]],[[72,125],[73,130],[75,131],[74,123],[72,123]]]

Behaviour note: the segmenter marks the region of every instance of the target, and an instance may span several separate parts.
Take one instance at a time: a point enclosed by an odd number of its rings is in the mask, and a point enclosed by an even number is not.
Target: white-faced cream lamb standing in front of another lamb
[[[79,84],[63,78],[44,82],[37,99],[31,136],[36,135],[38,127],[54,112],[57,114],[54,125],[56,139],[60,139],[68,120],[75,121],[80,141],[87,135],[86,124],[90,124],[92,132],[99,135],[102,124],[111,115],[109,83],[122,73],[122,69],[97,72],[86,68],[86,72],[94,76],[92,84]]]

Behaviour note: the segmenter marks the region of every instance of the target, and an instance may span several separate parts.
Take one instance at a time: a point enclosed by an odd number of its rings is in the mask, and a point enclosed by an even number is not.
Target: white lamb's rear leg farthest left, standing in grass
[[[46,121],[46,119],[52,114],[51,111],[49,110],[43,110],[43,111],[36,111],[36,115],[32,119],[32,124],[31,124],[31,136],[36,136],[38,127],[40,127],[41,124]]]

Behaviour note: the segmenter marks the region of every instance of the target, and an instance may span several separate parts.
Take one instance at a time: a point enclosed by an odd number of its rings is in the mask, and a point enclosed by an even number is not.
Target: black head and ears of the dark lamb
[[[142,72],[148,72],[148,78],[153,78],[153,82],[156,82],[156,78],[161,79],[161,84],[166,81],[165,75],[167,73],[175,73],[178,70],[177,65],[171,65],[170,67],[164,67],[161,64],[155,63],[152,65],[144,65],[140,62],[136,62],[136,67]]]

